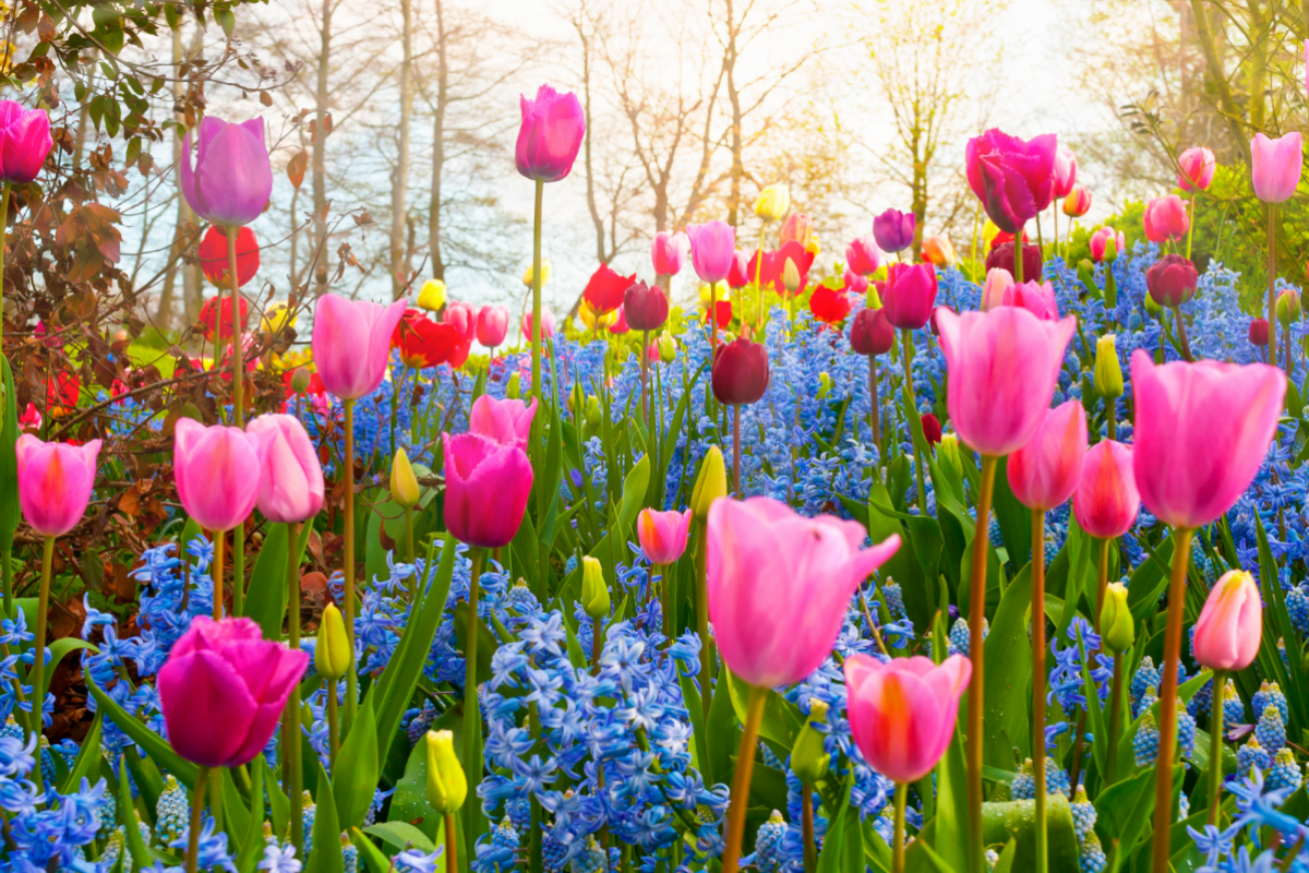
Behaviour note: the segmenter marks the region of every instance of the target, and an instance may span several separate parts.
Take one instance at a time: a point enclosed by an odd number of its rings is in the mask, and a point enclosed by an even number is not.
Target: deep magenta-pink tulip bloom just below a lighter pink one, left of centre
[[[445,450],[445,526],[480,548],[513,542],[531,495],[531,463],[517,444],[480,433],[441,435]]]

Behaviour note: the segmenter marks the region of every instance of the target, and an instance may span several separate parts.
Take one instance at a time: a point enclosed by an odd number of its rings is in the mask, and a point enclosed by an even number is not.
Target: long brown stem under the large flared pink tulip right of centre
[[[973,576],[969,582],[969,657],[973,678],[969,682],[969,869],[986,870],[982,846],[982,695],[984,685],[982,622],[986,620],[986,564],[990,544],[991,495],[995,491],[995,467],[999,458],[982,455],[982,486],[978,493],[978,520],[973,527]]]

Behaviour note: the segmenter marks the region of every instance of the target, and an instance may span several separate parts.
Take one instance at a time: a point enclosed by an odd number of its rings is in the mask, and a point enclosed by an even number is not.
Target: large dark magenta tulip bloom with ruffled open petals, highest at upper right
[[[1058,144],[1054,134],[1022,140],[996,128],[969,140],[963,153],[969,187],[995,226],[1016,234],[1050,205]]]

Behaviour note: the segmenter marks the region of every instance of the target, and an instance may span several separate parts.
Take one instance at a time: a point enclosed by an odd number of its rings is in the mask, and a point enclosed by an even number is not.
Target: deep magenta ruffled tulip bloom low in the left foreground
[[[247,618],[191,619],[156,681],[169,743],[202,767],[249,763],[308,665],[305,652],[260,639]]]

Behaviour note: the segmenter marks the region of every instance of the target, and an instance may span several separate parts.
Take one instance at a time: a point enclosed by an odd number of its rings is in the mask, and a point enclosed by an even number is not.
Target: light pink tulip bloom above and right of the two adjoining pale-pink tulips
[[[391,335],[408,301],[380,306],[368,300],[323,294],[314,309],[314,365],[329,394],[357,401],[372,394],[386,374]]]

